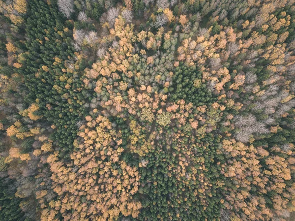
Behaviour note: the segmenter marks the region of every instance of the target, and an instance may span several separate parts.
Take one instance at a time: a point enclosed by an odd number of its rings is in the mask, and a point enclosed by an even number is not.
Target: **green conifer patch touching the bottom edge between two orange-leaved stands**
[[[172,144],[176,155],[164,148],[163,142],[159,142],[158,147],[148,153],[149,160],[147,167],[140,168],[142,187],[139,189],[140,198],[143,199],[143,209],[139,218],[135,220],[171,220],[171,221],[192,221],[219,220],[219,199],[218,188],[213,184],[205,192],[200,191],[202,181],[193,180],[190,176],[194,174],[193,168],[187,168],[185,175],[180,175],[177,155],[186,156],[186,147],[189,140],[179,140]],[[205,177],[210,183],[217,181],[218,171],[214,168],[212,160],[216,157],[215,148],[217,140],[210,134],[200,141],[203,148],[196,148],[194,158],[203,158],[203,163],[210,168]],[[178,149],[179,148],[179,149]],[[178,150],[180,150],[178,152]],[[187,159],[189,160],[189,159]],[[201,162],[200,162],[201,163]],[[191,165],[198,170],[200,165]],[[204,172],[204,171],[202,171]],[[204,181],[207,182],[207,181]],[[196,193],[197,192],[197,193]],[[206,202],[206,203],[205,203]],[[205,205],[204,205],[205,203]]]

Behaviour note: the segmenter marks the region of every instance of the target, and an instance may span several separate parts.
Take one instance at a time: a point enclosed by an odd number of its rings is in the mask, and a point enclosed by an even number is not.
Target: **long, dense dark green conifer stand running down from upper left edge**
[[[63,71],[67,68],[65,61],[74,57],[72,32],[65,31],[66,28],[56,5],[49,7],[43,1],[29,1],[26,23],[28,53],[20,69],[29,90],[26,100],[32,103],[37,99],[44,117],[57,126],[53,138],[64,148],[62,151],[72,147],[78,129],[75,123],[85,114],[83,104],[87,100],[77,91],[82,87],[81,80],[74,78],[73,73]],[[60,59],[61,63],[54,64],[55,58]],[[44,65],[48,69],[44,70]],[[85,64],[82,62],[80,67],[83,70]],[[70,90],[65,88],[67,82],[60,81],[59,76],[72,79]],[[54,86],[60,90],[55,90]],[[65,94],[67,99],[63,97]],[[51,110],[48,110],[48,105],[52,106]]]

